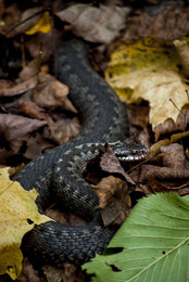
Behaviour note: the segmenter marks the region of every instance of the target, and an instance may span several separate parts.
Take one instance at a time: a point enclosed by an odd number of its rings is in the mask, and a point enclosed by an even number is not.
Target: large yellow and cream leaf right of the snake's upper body
[[[176,121],[179,112],[169,99],[178,108],[189,103],[189,87],[178,74],[179,64],[172,42],[149,38],[126,41],[112,53],[105,78],[123,101],[149,102],[149,121],[154,129],[168,118]]]

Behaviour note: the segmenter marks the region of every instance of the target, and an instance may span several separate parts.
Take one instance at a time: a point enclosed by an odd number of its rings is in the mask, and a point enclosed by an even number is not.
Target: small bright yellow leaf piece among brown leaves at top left
[[[52,27],[52,17],[46,11],[40,20],[30,29],[25,31],[26,35],[34,35],[36,33],[48,33]]]

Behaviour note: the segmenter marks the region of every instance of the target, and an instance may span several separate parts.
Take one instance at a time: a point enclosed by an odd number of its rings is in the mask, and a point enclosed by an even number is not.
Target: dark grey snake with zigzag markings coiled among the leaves
[[[102,254],[115,234],[114,227],[103,226],[99,198],[84,177],[88,162],[98,156],[101,148],[109,143],[124,162],[139,161],[148,153],[144,145],[127,141],[126,105],[92,68],[89,48],[77,38],[58,47],[56,78],[70,88],[70,98],[79,112],[80,132],[32,161],[13,177],[25,190],[37,190],[40,213],[59,198],[64,208],[87,221],[84,226],[58,221],[35,225],[24,235],[21,247],[24,256],[42,264],[83,265]]]

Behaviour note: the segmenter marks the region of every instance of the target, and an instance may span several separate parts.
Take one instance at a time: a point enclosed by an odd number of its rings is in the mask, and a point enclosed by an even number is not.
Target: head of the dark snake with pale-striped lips
[[[110,143],[114,154],[121,162],[141,161],[148,156],[149,149],[129,141]]]

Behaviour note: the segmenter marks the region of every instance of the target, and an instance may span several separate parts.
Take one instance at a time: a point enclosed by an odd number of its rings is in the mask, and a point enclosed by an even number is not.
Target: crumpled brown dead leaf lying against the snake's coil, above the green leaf
[[[92,188],[100,201],[99,207],[104,226],[122,225],[131,209],[127,183],[110,176]]]

